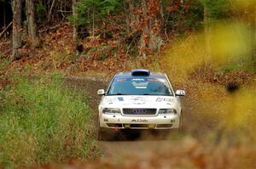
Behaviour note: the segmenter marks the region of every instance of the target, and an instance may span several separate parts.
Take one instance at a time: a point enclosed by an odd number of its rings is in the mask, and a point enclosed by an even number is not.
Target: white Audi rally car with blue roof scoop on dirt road
[[[105,128],[180,129],[183,115],[180,96],[166,74],[131,70],[113,76],[99,104],[98,138]]]

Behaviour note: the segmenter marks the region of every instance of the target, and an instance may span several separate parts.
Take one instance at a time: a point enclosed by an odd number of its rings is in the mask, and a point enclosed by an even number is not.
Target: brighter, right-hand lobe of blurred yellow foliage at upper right
[[[246,24],[219,22],[212,25],[209,36],[214,63],[252,60],[250,56],[253,52],[253,34]]]

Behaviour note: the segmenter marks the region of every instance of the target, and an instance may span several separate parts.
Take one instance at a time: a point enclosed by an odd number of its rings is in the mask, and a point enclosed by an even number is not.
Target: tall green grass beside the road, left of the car
[[[13,76],[0,90],[0,167],[98,155],[90,108],[61,83],[60,77]]]

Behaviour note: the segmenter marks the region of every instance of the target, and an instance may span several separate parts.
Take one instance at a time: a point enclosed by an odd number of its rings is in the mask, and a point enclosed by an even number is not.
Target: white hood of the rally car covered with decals
[[[105,96],[102,103],[110,107],[158,107],[177,104],[177,99],[172,96]]]

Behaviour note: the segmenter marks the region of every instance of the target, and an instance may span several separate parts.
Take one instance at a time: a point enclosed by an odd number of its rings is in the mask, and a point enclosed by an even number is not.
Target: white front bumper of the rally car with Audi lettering
[[[180,125],[179,115],[128,116],[100,115],[100,127],[114,129],[174,129]]]

